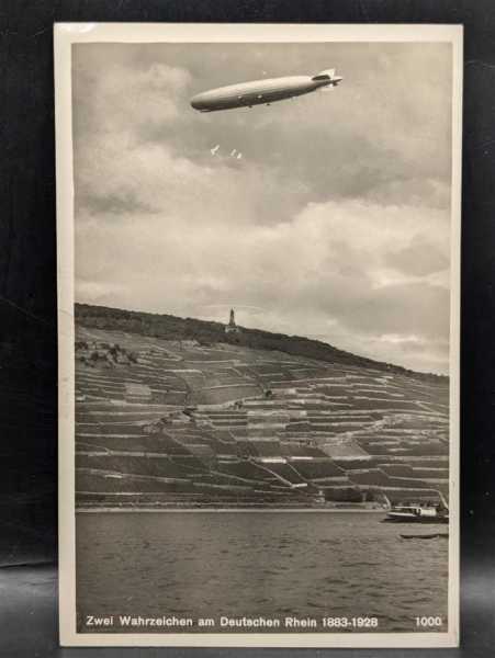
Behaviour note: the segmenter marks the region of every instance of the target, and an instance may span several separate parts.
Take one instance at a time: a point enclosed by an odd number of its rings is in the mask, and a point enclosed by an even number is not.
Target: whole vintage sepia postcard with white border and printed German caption
[[[459,640],[459,25],[55,26],[63,645]]]

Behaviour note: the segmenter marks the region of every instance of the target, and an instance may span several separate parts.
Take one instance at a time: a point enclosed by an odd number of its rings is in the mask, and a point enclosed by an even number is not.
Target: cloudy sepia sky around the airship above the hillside
[[[78,44],[72,67],[77,300],[232,306],[246,327],[448,371],[448,44]],[[334,67],[333,91],[189,104]]]

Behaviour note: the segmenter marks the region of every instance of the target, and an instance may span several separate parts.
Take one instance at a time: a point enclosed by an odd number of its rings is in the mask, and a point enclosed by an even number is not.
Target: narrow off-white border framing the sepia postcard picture
[[[450,538],[447,633],[77,633],[71,45],[74,43],[448,42],[452,44]],[[453,647],[459,644],[459,395],[462,25],[57,23],[54,26],[59,402],[59,635],[63,646]]]

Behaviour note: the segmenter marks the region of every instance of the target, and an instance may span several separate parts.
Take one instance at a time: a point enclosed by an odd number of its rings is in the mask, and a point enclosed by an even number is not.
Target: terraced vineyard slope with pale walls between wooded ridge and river
[[[434,500],[448,454],[446,378],[77,327],[79,507]]]

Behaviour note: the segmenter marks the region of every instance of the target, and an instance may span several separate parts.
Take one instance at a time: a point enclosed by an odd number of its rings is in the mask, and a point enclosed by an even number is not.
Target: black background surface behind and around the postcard
[[[58,649],[55,21],[463,23],[462,648],[495,653],[495,3],[493,0],[3,0],[0,3],[0,656],[157,656]],[[420,71],[419,71],[420,73]],[[379,84],[380,81],[376,81]],[[428,99],[425,99],[428,102]],[[26,566],[27,565],[27,566]],[[7,622],[7,623],[5,623]],[[245,649],[173,649],[216,656]],[[315,655],[328,651],[312,651]],[[286,655],[288,651],[283,651]],[[293,650],[293,656],[310,655]],[[266,651],[281,656],[282,651]],[[378,650],[333,656],[382,655]]]

